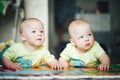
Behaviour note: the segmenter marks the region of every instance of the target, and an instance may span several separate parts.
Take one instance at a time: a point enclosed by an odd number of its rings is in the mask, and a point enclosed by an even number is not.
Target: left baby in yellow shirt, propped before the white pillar
[[[44,46],[45,35],[43,23],[35,18],[29,18],[20,25],[22,42],[13,44],[3,54],[3,65],[12,70],[38,67],[44,61],[52,69],[59,66],[55,57]]]

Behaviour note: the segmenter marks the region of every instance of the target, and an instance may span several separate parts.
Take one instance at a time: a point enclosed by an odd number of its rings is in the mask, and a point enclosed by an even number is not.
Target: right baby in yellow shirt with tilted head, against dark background
[[[75,66],[98,67],[99,70],[109,70],[110,59],[99,43],[94,40],[88,22],[74,20],[69,25],[68,30],[71,39],[60,54],[61,68]]]

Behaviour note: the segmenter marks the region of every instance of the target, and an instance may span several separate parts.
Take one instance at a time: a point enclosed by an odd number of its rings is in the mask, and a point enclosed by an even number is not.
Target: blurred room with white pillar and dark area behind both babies
[[[52,54],[69,42],[67,27],[74,19],[87,20],[95,40],[120,63],[120,0],[0,0],[0,43],[20,41],[18,26],[27,18],[38,18],[45,26],[45,44]]]

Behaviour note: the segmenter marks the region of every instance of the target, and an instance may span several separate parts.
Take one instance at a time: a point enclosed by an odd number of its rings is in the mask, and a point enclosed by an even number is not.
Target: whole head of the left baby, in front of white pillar
[[[40,46],[44,43],[44,25],[36,18],[29,18],[20,25],[20,38],[24,44]]]

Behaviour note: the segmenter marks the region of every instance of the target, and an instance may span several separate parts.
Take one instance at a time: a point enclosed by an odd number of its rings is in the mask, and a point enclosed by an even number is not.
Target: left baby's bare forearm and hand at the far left
[[[4,56],[2,57],[3,65],[11,70],[21,70],[22,67],[18,63],[13,63],[11,60],[5,58]]]

